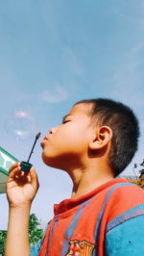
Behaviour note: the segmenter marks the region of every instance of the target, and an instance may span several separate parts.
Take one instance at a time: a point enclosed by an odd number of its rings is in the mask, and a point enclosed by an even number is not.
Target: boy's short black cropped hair
[[[108,98],[84,99],[80,103],[91,104],[89,115],[96,117],[99,126],[107,125],[113,136],[108,164],[114,176],[128,166],[138,148],[139,125],[132,109],[119,101]]]

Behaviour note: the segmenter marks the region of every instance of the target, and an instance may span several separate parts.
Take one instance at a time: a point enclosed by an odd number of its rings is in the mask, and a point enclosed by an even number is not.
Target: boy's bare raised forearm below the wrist
[[[31,205],[10,208],[5,256],[28,256]]]

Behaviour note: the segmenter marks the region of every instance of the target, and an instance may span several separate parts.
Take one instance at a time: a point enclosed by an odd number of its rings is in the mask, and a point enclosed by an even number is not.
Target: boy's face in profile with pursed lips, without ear
[[[74,106],[62,123],[45,136],[41,147],[46,165],[68,170],[84,164],[93,135],[91,118],[87,115],[89,108],[84,103]]]

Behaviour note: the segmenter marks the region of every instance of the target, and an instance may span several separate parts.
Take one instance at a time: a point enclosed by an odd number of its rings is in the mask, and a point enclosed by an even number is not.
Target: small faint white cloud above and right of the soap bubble
[[[55,83],[51,90],[44,90],[40,94],[40,98],[48,103],[57,103],[64,101],[67,98],[66,91],[60,86],[60,84]]]

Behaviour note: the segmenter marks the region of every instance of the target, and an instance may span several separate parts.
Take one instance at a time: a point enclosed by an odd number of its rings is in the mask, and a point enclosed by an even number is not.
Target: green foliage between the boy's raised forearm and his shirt
[[[29,218],[29,242],[36,244],[43,236],[43,230],[38,228],[39,222],[35,214]]]

